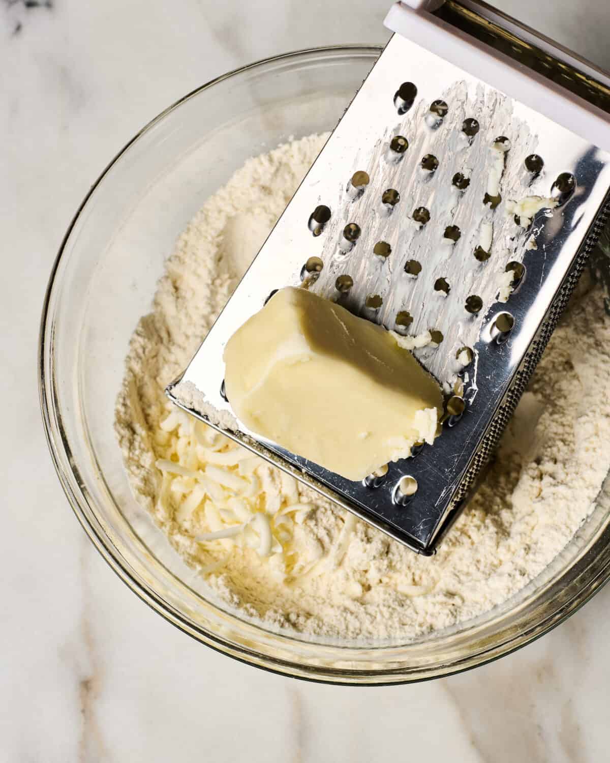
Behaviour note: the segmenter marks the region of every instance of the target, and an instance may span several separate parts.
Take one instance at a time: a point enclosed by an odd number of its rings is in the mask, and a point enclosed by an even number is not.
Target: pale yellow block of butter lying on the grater
[[[435,438],[435,379],[392,333],[307,289],[278,291],[223,357],[226,396],[249,430],[347,479]]]

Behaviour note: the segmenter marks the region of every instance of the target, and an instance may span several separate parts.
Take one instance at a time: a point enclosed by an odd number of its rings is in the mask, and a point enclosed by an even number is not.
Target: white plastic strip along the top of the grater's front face
[[[433,16],[430,11],[442,4],[442,0],[396,2],[384,24],[391,31],[610,152],[610,115]]]

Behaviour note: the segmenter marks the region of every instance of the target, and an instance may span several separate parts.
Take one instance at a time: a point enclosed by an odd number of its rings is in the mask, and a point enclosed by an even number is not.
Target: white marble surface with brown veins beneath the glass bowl
[[[610,68],[607,0],[498,2]],[[43,291],[108,159],[227,69],[384,40],[386,6],[0,2],[0,761],[610,759],[610,589],[525,650],[448,680],[362,690],[290,681],[205,649],[142,604],[85,538],[47,453],[36,386]]]

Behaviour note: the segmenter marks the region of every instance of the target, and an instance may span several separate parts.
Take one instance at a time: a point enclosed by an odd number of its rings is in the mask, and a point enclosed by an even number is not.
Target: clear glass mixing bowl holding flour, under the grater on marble
[[[379,53],[305,50],[255,63],[183,98],[108,166],[69,228],[40,330],[40,398],[59,479],[108,564],[175,626],[227,655],[298,678],[390,684],[435,678],[517,649],[608,578],[608,492],[563,554],[502,607],[414,642],[363,646],[271,633],[223,610],[130,494],[113,431],[130,334],[163,261],[207,197],[252,155],[330,130]]]

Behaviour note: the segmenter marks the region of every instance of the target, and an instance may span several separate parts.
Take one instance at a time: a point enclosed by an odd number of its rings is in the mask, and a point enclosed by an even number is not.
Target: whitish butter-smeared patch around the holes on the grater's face
[[[438,95],[432,104],[419,99],[346,167],[348,179],[366,173],[369,181],[354,188],[348,180],[337,189],[332,217],[320,233],[323,269],[310,276],[310,288],[398,333],[440,332],[440,348],[435,342],[414,354],[438,381],[452,385],[462,369],[459,349],[477,342],[506,282],[506,265],[521,262],[525,252],[530,234],[507,214],[507,204],[548,196],[551,188],[525,168],[538,138],[509,98],[463,81]],[[392,150],[397,139],[408,142],[403,153]],[[502,185],[501,195],[494,188],[494,201],[492,185]],[[400,198],[384,204],[390,191]],[[359,229],[354,243],[345,240],[349,226]],[[376,255],[383,245],[389,253]],[[337,279],[345,277],[352,287],[342,291]],[[476,313],[464,307],[472,298],[480,300]],[[379,307],[369,307],[372,300]]]

